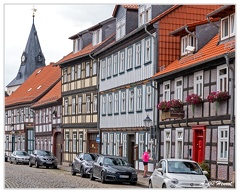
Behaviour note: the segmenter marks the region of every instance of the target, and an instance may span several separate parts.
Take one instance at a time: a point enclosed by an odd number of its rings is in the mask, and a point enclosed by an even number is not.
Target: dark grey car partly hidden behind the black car
[[[98,155],[94,153],[79,153],[71,164],[71,174],[80,173],[81,177],[89,175],[93,162],[97,160]]]

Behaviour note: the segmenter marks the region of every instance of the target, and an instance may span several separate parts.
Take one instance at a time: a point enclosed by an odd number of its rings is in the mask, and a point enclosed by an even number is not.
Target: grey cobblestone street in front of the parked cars
[[[89,178],[72,176],[70,172],[60,169],[35,168],[28,165],[5,163],[6,188],[142,188],[129,184],[102,184]],[[146,188],[146,187],[145,187]]]

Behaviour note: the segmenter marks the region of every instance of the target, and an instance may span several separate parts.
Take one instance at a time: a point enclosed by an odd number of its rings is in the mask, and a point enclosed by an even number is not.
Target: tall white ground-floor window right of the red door
[[[229,126],[218,127],[218,161],[228,161]]]

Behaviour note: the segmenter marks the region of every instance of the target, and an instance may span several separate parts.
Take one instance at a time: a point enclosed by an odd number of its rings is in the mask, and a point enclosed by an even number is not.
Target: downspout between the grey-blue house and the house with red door
[[[153,24],[153,27],[154,27],[154,24]],[[155,27],[154,27],[155,28]],[[156,36],[154,36],[153,34],[151,34],[148,30],[147,30],[147,25],[145,24],[144,25],[144,30],[147,34],[149,34],[149,36],[152,37],[153,39],[153,75],[157,72],[157,34]],[[157,30],[156,30],[156,33],[157,33]],[[154,95],[153,95],[153,101],[155,103],[156,101],[156,95],[157,93],[155,92],[155,90],[157,90],[157,87],[156,87],[156,82],[154,81],[151,81],[151,87],[154,88]],[[156,167],[156,163],[157,163],[157,160],[159,160],[159,152],[160,152],[160,134],[161,134],[161,131],[159,131],[159,125],[157,124],[156,122],[156,105],[153,106],[153,126],[155,127],[155,129],[157,129],[157,142],[158,142],[158,146],[156,144],[156,148],[155,148],[155,163],[154,163],[154,168]],[[155,132],[156,134],[156,132]],[[156,143],[157,143],[156,142]]]

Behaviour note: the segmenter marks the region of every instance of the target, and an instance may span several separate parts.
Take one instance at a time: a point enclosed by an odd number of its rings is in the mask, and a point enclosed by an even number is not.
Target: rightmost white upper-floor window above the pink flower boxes
[[[217,67],[217,91],[228,91],[228,68],[227,65]]]

